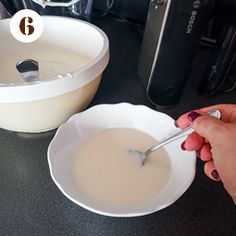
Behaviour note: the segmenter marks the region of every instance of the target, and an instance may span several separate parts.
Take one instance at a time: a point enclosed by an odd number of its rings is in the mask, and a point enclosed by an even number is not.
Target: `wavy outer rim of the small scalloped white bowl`
[[[60,189],[60,191],[68,198],[70,199],[72,202],[74,202],[75,204],[100,215],[105,215],[105,216],[111,216],[111,217],[137,217],[137,216],[144,216],[144,215],[148,215],[148,214],[152,214],[155,213],[159,210],[162,210],[168,206],[170,206],[171,204],[173,204],[175,201],[177,201],[186,191],[187,189],[190,187],[190,185],[192,184],[194,178],[195,178],[195,174],[196,174],[196,155],[194,155],[194,153],[189,153],[189,156],[192,156],[193,160],[192,160],[192,168],[193,171],[191,173],[191,176],[189,176],[188,180],[185,182],[185,184],[181,187],[181,189],[179,189],[178,191],[176,191],[176,193],[168,200],[165,202],[165,204],[159,205],[158,207],[152,207],[148,210],[142,211],[142,212],[129,212],[129,213],[117,213],[117,212],[105,212],[103,210],[99,210],[99,209],[95,209],[91,206],[89,206],[88,204],[84,203],[83,201],[80,201],[78,199],[75,199],[73,196],[70,196],[69,193],[67,193],[67,191],[63,188],[63,186],[59,183],[59,181],[57,180],[56,176],[54,176],[53,173],[53,166],[52,166],[52,162],[51,162],[51,156],[50,156],[50,151],[51,148],[53,146],[54,140],[57,138],[57,136],[59,135],[60,132],[63,131],[63,129],[66,129],[66,126],[69,125],[71,122],[73,122],[73,120],[75,120],[78,116],[80,116],[80,114],[84,114],[87,112],[91,112],[95,109],[100,109],[103,107],[122,107],[122,106],[129,106],[129,107],[133,107],[133,108],[142,108],[142,109],[147,109],[147,110],[152,110],[153,112],[157,112],[162,114],[163,116],[166,116],[166,118],[168,119],[172,119],[169,115],[163,113],[163,112],[159,112],[156,110],[153,110],[145,105],[133,105],[130,103],[117,103],[117,104],[99,104],[99,105],[95,105],[92,106],[90,108],[88,108],[87,110],[74,114],[72,117],[70,117],[64,124],[62,124],[58,130],[55,133],[55,136],[53,137],[53,139],[51,140],[49,147],[48,147],[48,151],[47,151],[47,159],[48,159],[48,165],[49,165],[49,171],[50,171],[50,175],[51,178],[53,179],[54,183],[56,184],[56,186]],[[173,119],[172,119],[173,120]]]

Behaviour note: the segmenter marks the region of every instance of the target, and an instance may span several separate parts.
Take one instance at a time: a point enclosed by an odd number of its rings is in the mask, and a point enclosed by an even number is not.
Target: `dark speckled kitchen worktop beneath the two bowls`
[[[141,36],[121,20],[97,19],[110,40],[111,59],[90,106],[130,102],[151,107],[137,76]],[[199,106],[235,103],[236,92],[203,98],[195,91],[204,53],[195,66],[180,103],[158,110],[177,118]],[[221,183],[209,180],[198,160],[196,177],[171,206],[143,217],[113,218],[89,212],[67,199],[53,183],[47,148],[55,130],[25,134],[0,129],[0,235],[236,235],[236,206]]]

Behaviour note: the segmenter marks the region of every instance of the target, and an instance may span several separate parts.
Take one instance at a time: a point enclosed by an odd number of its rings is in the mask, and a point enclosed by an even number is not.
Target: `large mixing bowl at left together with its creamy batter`
[[[32,44],[13,38],[10,19],[0,21],[1,128],[20,132],[57,128],[88,106],[108,64],[108,38],[96,26],[64,17],[42,19],[44,31]],[[39,61],[40,82],[25,83],[16,73],[15,64],[25,57]]]

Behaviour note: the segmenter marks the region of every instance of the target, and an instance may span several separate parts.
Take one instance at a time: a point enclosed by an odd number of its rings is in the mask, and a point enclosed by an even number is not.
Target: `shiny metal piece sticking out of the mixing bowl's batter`
[[[39,80],[39,63],[33,59],[25,59],[17,62],[16,69],[22,79],[27,83]]]

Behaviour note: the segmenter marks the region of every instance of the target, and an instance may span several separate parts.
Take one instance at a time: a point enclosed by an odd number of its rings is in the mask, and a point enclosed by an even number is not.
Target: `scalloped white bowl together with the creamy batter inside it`
[[[142,166],[129,148],[145,150],[153,141],[129,129],[157,141],[177,131],[168,115],[128,103],[94,106],[59,127],[48,148],[48,163],[66,197],[98,214],[131,217],[159,211],[188,189],[196,157],[181,150],[183,138],[166,145],[165,152],[159,149]]]

